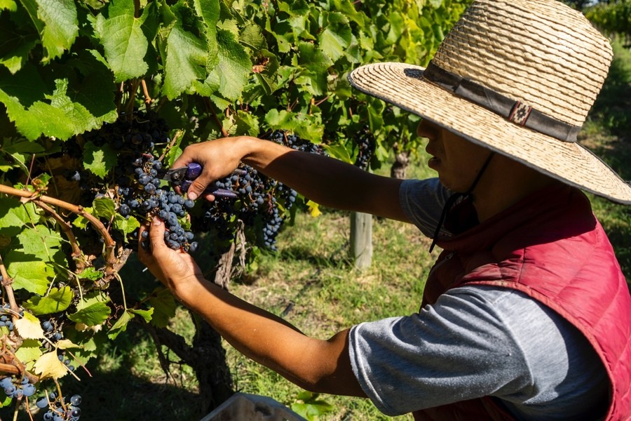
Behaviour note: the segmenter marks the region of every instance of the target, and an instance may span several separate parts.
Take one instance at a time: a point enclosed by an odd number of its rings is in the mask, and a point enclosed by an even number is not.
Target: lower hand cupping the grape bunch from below
[[[150,250],[142,246],[143,232],[149,231]],[[182,250],[172,250],[164,242],[164,222],[154,217],[151,225],[140,227],[138,257],[156,278],[180,300],[203,282],[203,274],[195,260]]]

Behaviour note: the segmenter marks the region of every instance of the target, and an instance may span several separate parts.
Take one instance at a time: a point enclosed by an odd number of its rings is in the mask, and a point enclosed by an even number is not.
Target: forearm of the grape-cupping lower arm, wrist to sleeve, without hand
[[[313,392],[365,396],[348,357],[344,330],[309,338],[290,323],[200,280],[178,296],[239,352]]]

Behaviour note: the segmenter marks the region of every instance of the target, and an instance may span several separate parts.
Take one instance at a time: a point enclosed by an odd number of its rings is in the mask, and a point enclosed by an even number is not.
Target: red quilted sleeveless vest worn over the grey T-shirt
[[[555,185],[480,225],[469,201],[446,226],[460,232],[439,239],[423,305],[449,288],[492,285],[527,293],[585,335],[611,381],[606,420],[631,419],[631,297],[606,234],[580,191]],[[473,217],[475,218],[475,216]],[[513,420],[489,397],[414,412],[416,420]]]

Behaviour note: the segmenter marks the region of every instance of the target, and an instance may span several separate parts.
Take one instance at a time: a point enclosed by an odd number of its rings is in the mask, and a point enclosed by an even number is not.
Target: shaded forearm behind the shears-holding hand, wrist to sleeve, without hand
[[[398,199],[401,180],[380,177],[337,159],[295,151],[266,140],[245,141],[249,145],[244,163],[315,203],[407,220]]]

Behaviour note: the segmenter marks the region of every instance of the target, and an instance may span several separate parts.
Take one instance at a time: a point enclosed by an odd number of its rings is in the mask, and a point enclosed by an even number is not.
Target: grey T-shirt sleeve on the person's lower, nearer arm
[[[349,353],[362,389],[386,415],[531,384],[503,315],[470,288],[454,288],[417,314],[354,326]]]

